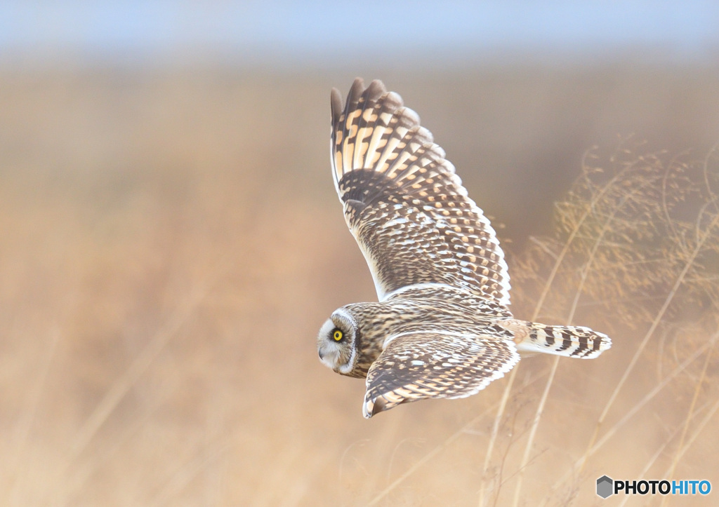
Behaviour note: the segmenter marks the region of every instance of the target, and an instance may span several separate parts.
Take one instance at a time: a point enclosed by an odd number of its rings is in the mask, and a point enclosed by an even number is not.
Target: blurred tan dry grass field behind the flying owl
[[[640,150],[691,148],[682,159],[700,160],[719,141],[711,70],[365,72],[375,77],[420,113],[470,195],[506,225],[505,251],[524,270],[518,317],[535,309],[531,274],[546,274],[531,248],[553,248],[527,238],[551,235],[553,203],[590,146],[611,152],[617,134],[635,132],[648,139]],[[490,503],[513,500],[553,358],[522,361],[485,472],[507,378],[367,422],[363,383],[316,357],[329,313],[376,297],[329,176],[329,89],[346,93],[352,78],[0,73],[0,503],[477,505],[482,488]],[[710,292],[697,308],[711,317]],[[566,318],[564,299],[541,315]],[[599,503],[598,476],[661,478],[682,445],[674,478],[719,487],[716,350],[573,468],[659,306],[618,304],[578,307],[574,320],[614,346],[559,365],[521,505]],[[706,343],[706,329],[685,324],[691,307],[649,338],[599,437]]]

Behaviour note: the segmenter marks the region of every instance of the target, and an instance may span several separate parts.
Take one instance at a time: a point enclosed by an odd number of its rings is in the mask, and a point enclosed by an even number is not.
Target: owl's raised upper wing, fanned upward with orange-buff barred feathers
[[[355,80],[344,108],[332,90],[331,106],[334,184],[380,301],[439,283],[509,304],[495,231],[417,114],[377,80]]]

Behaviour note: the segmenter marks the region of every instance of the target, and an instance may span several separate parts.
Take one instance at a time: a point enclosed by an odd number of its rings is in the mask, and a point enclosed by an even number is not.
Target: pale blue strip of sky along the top
[[[719,1],[0,2],[0,56],[331,62],[719,52]]]

